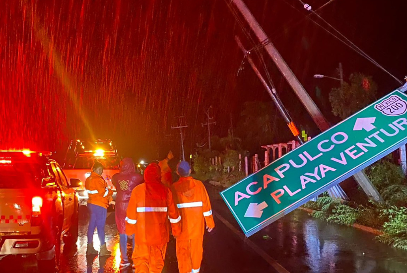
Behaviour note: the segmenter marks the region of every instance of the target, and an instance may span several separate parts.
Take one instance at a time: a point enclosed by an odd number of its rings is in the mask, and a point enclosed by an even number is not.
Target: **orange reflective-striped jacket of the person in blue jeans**
[[[109,207],[109,203],[112,201],[113,191],[108,188],[102,176],[92,171],[90,176],[86,178],[85,188],[89,196],[87,203],[104,208]]]

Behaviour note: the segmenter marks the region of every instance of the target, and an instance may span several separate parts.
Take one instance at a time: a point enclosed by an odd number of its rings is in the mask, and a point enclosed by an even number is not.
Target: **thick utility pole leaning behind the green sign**
[[[288,67],[288,65],[285,63],[285,61],[282,59],[281,55],[277,51],[277,49],[274,47],[274,45],[271,43],[269,40],[269,37],[266,35],[264,32],[263,28],[259,25],[257,22],[256,18],[253,16],[253,14],[250,12],[246,4],[243,2],[243,0],[231,0],[236,7],[239,9],[239,11],[242,13],[243,17],[247,21],[247,23],[250,25],[252,28],[253,32],[256,34],[257,38],[261,43],[265,43],[264,48],[270,55],[271,59],[277,66],[277,68],[280,70],[280,72],[283,74],[287,82],[290,84],[291,88],[294,90],[295,94],[298,96],[302,104],[305,106],[307,109],[308,113],[311,115],[312,119],[315,121],[317,124],[318,128],[324,132],[328,130],[331,126],[325,119],[324,115],[321,113],[321,111],[318,109],[317,105],[314,103],[314,101],[311,99],[307,91],[304,89],[304,87],[301,85],[297,77],[294,75],[294,73],[291,71],[291,69]],[[366,174],[363,171],[360,171],[353,175],[355,180],[358,182],[359,186],[364,190],[366,195],[376,201],[376,202],[383,202],[382,197],[380,196],[379,192],[376,190],[376,188],[373,186],[372,182],[369,180],[369,178],[366,176]]]

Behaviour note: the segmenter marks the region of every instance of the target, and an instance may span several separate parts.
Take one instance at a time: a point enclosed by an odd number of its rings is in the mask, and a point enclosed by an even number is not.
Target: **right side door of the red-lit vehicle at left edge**
[[[62,172],[61,167],[56,162],[51,163],[51,166],[55,173],[57,183],[61,188],[61,199],[64,206],[63,231],[67,231],[74,211],[75,191],[72,188],[68,188],[68,181],[65,174]]]

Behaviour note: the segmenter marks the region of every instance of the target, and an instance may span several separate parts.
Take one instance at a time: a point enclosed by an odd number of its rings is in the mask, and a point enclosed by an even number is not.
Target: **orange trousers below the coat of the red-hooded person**
[[[159,246],[136,244],[132,255],[135,273],[161,273],[166,250],[167,244]]]

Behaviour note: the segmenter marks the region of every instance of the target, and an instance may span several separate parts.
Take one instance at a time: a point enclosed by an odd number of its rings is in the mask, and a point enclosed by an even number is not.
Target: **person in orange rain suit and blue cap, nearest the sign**
[[[182,222],[182,232],[176,238],[178,269],[180,273],[199,273],[204,253],[204,222],[208,232],[215,227],[212,209],[204,184],[190,176],[188,162],[178,163],[177,173],[180,179],[171,190]]]

